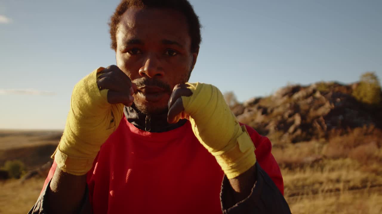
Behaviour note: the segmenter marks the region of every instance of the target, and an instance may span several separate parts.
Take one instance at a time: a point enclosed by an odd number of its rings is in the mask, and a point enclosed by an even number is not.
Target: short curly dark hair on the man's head
[[[121,16],[130,7],[137,8],[164,8],[179,11],[186,16],[188,31],[191,37],[191,51],[197,53],[202,41],[199,17],[196,15],[193,6],[188,0],[122,0],[115,8],[114,14],[110,17],[110,47],[117,51],[117,30],[121,21]]]

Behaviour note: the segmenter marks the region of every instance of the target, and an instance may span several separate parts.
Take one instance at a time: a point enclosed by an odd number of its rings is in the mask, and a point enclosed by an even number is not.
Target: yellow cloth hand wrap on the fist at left
[[[100,67],[74,86],[64,133],[52,155],[57,166],[73,175],[86,174],[101,145],[118,127],[123,104],[107,102],[108,89],[99,90]]]

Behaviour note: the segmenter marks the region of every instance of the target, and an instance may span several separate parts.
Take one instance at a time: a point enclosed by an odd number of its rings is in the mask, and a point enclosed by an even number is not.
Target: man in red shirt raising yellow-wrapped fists
[[[201,42],[187,0],[123,0],[110,36],[117,65],[74,87],[29,213],[290,213],[269,140],[187,82]]]

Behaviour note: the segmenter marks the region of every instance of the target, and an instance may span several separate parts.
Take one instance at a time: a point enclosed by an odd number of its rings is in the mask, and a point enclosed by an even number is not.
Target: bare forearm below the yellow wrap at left
[[[86,174],[75,176],[57,168],[47,188],[48,213],[78,213],[86,190]]]

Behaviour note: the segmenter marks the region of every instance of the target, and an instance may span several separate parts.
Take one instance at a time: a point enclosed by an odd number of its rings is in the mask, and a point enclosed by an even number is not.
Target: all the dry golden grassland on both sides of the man
[[[59,137],[60,132],[10,135],[2,131],[0,166],[6,158],[22,160],[29,169],[45,163]],[[365,128],[337,133],[327,140],[296,144],[275,141],[272,153],[282,169],[285,198],[292,213],[382,213],[381,141],[379,129]],[[23,157],[27,154],[36,157]],[[23,184],[20,180],[0,181],[0,213],[28,212],[43,183],[44,178]]]

